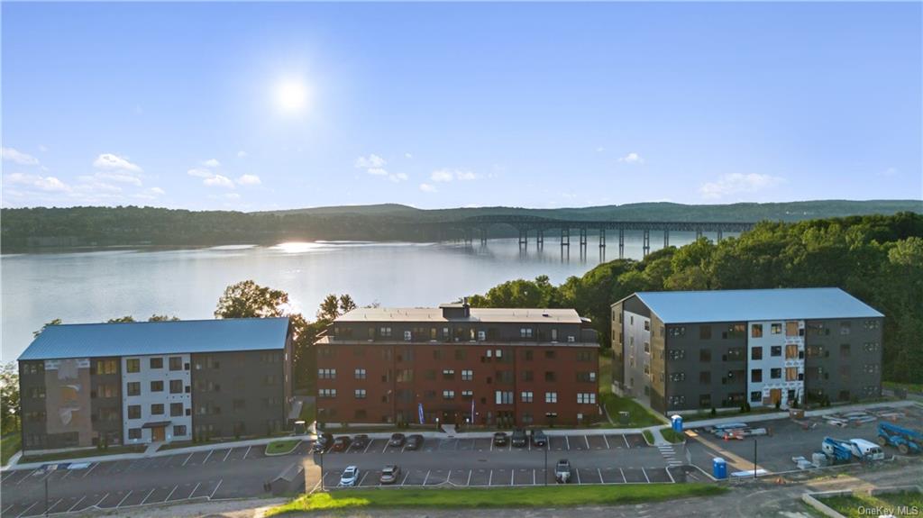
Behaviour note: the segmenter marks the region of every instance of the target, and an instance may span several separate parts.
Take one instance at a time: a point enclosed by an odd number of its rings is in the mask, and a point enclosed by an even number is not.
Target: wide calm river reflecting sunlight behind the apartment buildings
[[[672,245],[692,239],[692,233],[670,234]],[[484,293],[510,279],[546,275],[558,284],[603,260],[594,236],[586,257],[581,258],[577,241],[571,237],[565,254],[557,240],[546,239],[537,250],[533,238],[525,253],[512,239],[491,240],[486,246],[477,241],[473,246],[318,241],[2,255],[2,359],[16,359],[29,346],[32,332],[55,318],[65,324],[123,315],[146,320],[154,313],[212,318],[224,288],[245,279],[287,291],[294,311],[309,318],[328,293],[349,293],[360,305],[431,306]],[[652,232],[652,249],[662,243]],[[625,256],[641,258],[640,235],[626,233]],[[605,260],[617,257],[618,243],[610,236]]]

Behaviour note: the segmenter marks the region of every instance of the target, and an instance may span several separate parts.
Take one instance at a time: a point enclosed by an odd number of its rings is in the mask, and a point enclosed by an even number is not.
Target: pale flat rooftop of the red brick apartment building
[[[461,306],[458,306],[461,307]],[[472,322],[485,324],[581,324],[576,310],[471,308],[471,316],[446,318],[439,308],[356,308],[336,319],[350,322]]]

